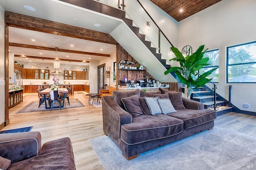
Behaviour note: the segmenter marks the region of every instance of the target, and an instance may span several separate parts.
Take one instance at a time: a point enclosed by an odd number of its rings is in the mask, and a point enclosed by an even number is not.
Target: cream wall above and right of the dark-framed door
[[[105,68],[107,70],[110,67],[110,78],[106,78],[106,84],[112,87],[116,87],[116,82],[113,81],[113,63],[116,62],[116,53],[110,55],[110,57],[105,57],[104,59],[98,61],[98,65],[106,63]],[[117,66],[118,67],[118,66]]]

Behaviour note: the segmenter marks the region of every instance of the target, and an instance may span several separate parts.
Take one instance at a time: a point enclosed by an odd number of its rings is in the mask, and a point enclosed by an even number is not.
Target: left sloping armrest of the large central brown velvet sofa
[[[132,123],[132,115],[116,103],[112,96],[102,97],[103,130],[117,146],[121,133],[121,126]]]

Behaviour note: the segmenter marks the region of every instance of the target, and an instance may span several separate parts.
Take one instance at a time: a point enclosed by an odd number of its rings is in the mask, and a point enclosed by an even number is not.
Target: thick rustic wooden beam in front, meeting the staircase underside
[[[4,21],[8,26],[33,30],[38,32],[45,32],[60,36],[67,36],[72,38],[79,38],[83,40],[90,40],[95,42],[118,44],[110,34],[88,30],[86,28],[70,26],[59,22],[26,16],[14,12],[5,11]]]

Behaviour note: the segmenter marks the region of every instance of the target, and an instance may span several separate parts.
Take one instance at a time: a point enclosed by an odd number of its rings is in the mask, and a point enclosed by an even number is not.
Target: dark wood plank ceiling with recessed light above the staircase
[[[172,18],[181,21],[222,0],[150,0]],[[182,12],[180,12],[182,10]]]

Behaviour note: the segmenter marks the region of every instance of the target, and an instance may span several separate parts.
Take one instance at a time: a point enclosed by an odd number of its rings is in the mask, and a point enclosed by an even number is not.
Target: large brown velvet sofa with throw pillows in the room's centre
[[[120,148],[127,160],[214,127],[216,111],[204,109],[203,103],[181,97],[180,92],[160,90],[161,94],[142,92],[139,89],[113,91],[113,96],[102,98],[104,133]],[[144,97],[154,95],[158,99],[169,96],[176,112],[150,115],[142,101]],[[131,101],[129,105],[134,105],[134,110],[131,111],[124,102],[127,99]],[[138,111],[140,108],[143,113]]]

